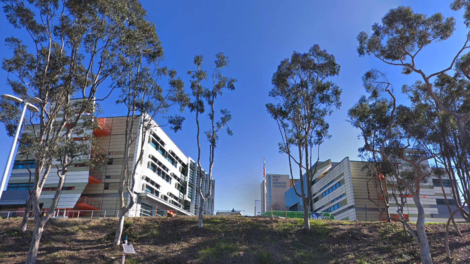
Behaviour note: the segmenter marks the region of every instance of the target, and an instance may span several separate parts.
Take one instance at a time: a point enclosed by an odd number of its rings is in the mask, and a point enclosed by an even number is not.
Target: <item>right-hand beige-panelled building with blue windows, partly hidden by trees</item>
[[[398,161],[399,170],[410,168],[404,161]],[[327,165],[327,166],[325,166]],[[346,157],[339,163],[326,161],[317,167],[327,167],[328,170],[321,175],[315,175],[312,186],[313,211],[327,211],[332,213],[337,220],[379,221],[384,220],[384,198],[390,200],[389,212],[396,214],[397,201],[393,198],[392,188],[396,186],[393,179],[385,179],[372,176],[361,161],[350,161]],[[426,170],[430,170],[429,164],[423,164]],[[331,166],[331,167],[330,167]],[[320,174],[320,175],[319,175]],[[449,212],[443,204],[443,192],[441,186],[436,184],[436,177],[423,182],[420,190],[420,200],[425,210],[426,221],[446,222]],[[446,180],[446,179],[444,179]],[[384,195],[380,191],[379,184],[384,187]],[[452,196],[450,187],[444,187],[448,197]],[[417,210],[411,197],[406,197],[403,214],[409,221],[416,221]],[[400,202],[400,197],[397,197]],[[454,207],[453,207],[454,208]],[[459,220],[460,216],[456,216]]]

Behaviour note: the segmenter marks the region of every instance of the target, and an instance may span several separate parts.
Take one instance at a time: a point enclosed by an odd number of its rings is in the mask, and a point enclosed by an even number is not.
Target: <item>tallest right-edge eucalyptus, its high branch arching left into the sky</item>
[[[465,9],[463,18],[469,29],[470,1],[454,0],[451,8]],[[444,18],[441,13],[426,16],[414,13],[409,7],[399,7],[385,14],[382,24],[375,23],[370,36],[360,32],[357,50],[361,56],[373,55],[388,65],[401,67],[403,74],[414,73],[421,78],[421,91],[427,94],[425,100],[431,100],[435,105],[435,115],[442,121],[446,120],[440,127],[445,134],[438,138],[442,148],[438,151],[439,160],[452,181],[455,202],[462,217],[470,221],[469,211],[464,209],[464,205],[470,202],[470,107],[465,89],[470,80],[470,30],[462,46],[455,50],[455,55],[448,58],[441,70],[425,72],[418,59],[423,49],[432,42],[448,39],[454,29],[453,17]],[[417,86],[411,87],[417,91]],[[423,93],[418,95],[424,96]],[[460,186],[456,184],[457,180]]]

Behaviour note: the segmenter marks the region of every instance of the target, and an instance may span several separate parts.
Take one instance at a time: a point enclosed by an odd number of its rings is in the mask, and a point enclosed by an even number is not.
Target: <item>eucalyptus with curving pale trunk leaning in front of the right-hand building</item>
[[[415,228],[397,210],[399,220],[415,239],[423,264],[431,264],[429,242],[424,228],[424,206],[421,201],[421,184],[429,180],[431,171],[426,170],[424,163],[436,156],[423,150],[427,141],[415,136],[415,129],[421,129],[409,122],[409,118],[423,118],[422,109],[397,105],[392,85],[384,74],[376,70],[366,72],[363,77],[364,88],[370,94],[348,110],[349,122],[360,130],[364,146],[360,151],[380,155],[388,164],[395,178],[396,185],[405,187],[413,198],[418,217]],[[387,97],[385,97],[387,96]],[[410,169],[399,171],[395,159],[405,161]],[[401,206],[402,208],[403,206]]]

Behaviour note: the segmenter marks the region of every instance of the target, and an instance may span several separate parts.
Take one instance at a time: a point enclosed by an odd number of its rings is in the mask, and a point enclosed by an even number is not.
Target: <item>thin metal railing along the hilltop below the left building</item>
[[[45,213],[47,210],[41,210],[41,213]],[[196,210],[196,215],[197,215]],[[206,214],[215,215],[216,212],[230,212],[232,210],[204,210]],[[244,210],[237,210],[242,212],[245,215]],[[209,213],[207,213],[209,212]],[[185,215],[179,214],[177,210],[129,210],[125,216],[126,217],[164,217],[172,216],[172,213],[175,215]],[[102,217],[118,217],[119,210],[55,210],[55,218],[102,218]],[[23,217],[24,210],[16,211],[0,211],[0,218],[8,219],[10,217]],[[33,212],[29,212],[29,217],[33,217]]]

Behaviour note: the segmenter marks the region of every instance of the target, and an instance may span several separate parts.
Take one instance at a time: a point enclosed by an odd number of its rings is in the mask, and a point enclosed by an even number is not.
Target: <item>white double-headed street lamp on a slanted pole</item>
[[[13,158],[13,153],[15,152],[16,141],[18,141],[18,136],[20,134],[21,125],[23,124],[24,113],[26,112],[26,109],[30,109],[30,111],[38,113],[39,109],[35,107],[33,103],[42,102],[42,100],[37,97],[31,97],[28,100],[24,101],[21,98],[18,98],[16,96],[9,95],[9,94],[2,94],[1,98],[8,100],[8,101],[16,102],[16,103],[24,103],[24,107],[23,107],[23,112],[21,113],[20,122],[18,123],[18,127],[16,128],[15,139],[13,140],[13,144],[11,145],[10,154],[8,155],[8,159],[7,159],[7,164],[5,165],[5,171],[3,171],[3,176],[1,178],[0,199],[1,199],[1,195],[3,194],[3,188],[5,188],[5,183],[7,182],[8,171],[10,170],[11,160]],[[27,165],[28,164],[26,162],[26,166]]]

